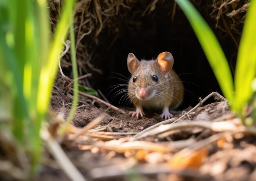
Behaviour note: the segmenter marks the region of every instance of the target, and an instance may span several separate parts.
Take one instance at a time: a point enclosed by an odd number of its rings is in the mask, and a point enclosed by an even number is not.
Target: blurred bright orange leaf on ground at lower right
[[[202,165],[207,154],[208,150],[206,148],[191,151],[189,154],[177,152],[173,155],[173,158],[168,161],[168,164],[175,170],[184,170],[186,168],[198,169]]]

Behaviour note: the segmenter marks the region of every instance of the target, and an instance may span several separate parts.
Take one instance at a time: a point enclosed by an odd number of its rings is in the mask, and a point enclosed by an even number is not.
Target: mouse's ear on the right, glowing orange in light
[[[165,51],[158,55],[157,63],[164,73],[164,76],[168,76],[168,72],[173,68],[173,56],[170,52]]]

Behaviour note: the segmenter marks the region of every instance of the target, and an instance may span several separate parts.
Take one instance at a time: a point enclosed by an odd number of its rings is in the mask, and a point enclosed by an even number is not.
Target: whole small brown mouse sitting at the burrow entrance
[[[170,119],[171,109],[177,108],[183,101],[184,87],[182,81],[174,72],[173,56],[163,52],[156,60],[139,61],[132,53],[127,58],[128,70],[132,74],[128,85],[128,96],[135,105],[136,111],[129,112],[132,117],[143,117],[143,107],[162,109],[160,115]]]

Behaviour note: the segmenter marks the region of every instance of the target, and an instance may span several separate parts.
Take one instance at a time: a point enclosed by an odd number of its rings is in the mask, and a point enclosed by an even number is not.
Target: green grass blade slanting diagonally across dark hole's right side
[[[224,96],[233,101],[233,78],[225,54],[211,28],[189,0],[175,0],[188,18]]]

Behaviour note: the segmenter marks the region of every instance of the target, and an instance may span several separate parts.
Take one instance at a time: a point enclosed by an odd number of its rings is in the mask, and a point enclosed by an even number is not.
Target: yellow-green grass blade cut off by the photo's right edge
[[[252,80],[256,75],[256,1],[250,1],[238,49],[235,72],[235,98],[232,108],[242,116],[245,103],[252,97]]]

